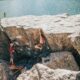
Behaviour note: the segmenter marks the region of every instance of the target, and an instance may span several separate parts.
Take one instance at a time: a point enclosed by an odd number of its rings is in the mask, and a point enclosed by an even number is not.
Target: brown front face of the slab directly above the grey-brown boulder
[[[50,33],[46,34],[46,38],[48,44],[50,45],[52,51],[63,51],[63,50],[71,50],[73,49],[73,45],[71,44],[68,36],[70,33]]]

